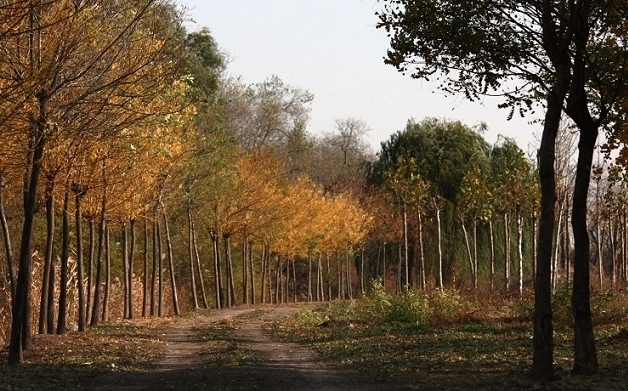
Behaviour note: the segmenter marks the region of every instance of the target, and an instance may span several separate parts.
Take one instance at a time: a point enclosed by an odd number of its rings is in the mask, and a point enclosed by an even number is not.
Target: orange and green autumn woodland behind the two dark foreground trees
[[[230,76],[211,26],[186,31],[165,0],[13,0],[0,16],[9,362],[33,334],[115,319],[533,291],[541,159],[513,140],[431,117],[390,129],[377,153],[359,118],[314,133],[309,91]],[[552,292],[573,281],[579,126],[563,117],[556,137]],[[586,195],[599,292],[628,283],[618,134],[596,147]]]

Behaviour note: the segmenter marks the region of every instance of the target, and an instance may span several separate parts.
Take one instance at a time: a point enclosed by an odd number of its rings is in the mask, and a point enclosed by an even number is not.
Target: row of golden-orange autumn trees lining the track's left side
[[[117,278],[125,317],[136,311],[136,274],[142,315],[163,315],[167,280],[178,314],[181,276],[195,307],[208,277],[215,306],[236,303],[234,240],[249,254],[241,257],[244,301],[256,297],[252,248],[264,249],[257,270],[268,276],[270,254],[279,256],[281,277],[288,262],[318,254],[320,265],[322,254],[344,254],[362,241],[371,218],[357,198],[346,189],[324,192],[339,176],[357,175],[353,141],[339,141],[342,124],[360,130],[360,121],[338,121],[338,135],[312,137],[305,131],[311,94],[277,77],[250,86],[223,78],[209,32],[188,34],[169,1],[20,0],[0,12],[10,362],[22,361],[33,316],[40,333],[63,333],[68,320],[79,330],[108,320]],[[338,169],[323,164],[335,158]],[[181,232],[188,232],[185,250]],[[69,315],[71,306],[77,311]]]

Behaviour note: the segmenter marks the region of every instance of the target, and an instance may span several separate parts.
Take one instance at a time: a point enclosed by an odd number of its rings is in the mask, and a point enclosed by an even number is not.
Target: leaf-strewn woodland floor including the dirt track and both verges
[[[543,385],[526,373],[525,326],[395,331],[348,321],[278,323],[296,319],[301,308],[201,311],[34,336],[26,364],[0,364],[0,390],[628,390],[621,333],[600,343],[605,372],[579,379],[562,369],[564,380]]]

